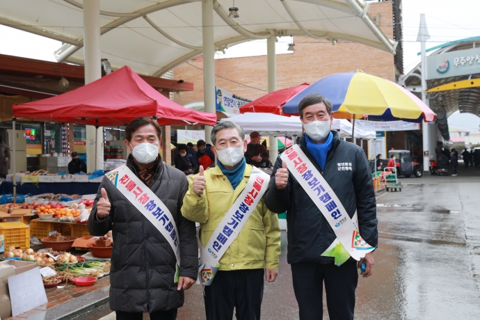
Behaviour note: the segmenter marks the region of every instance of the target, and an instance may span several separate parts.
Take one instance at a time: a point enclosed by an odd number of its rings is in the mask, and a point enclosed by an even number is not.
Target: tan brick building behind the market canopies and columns
[[[387,38],[401,40],[401,0],[371,3],[369,14],[376,19]],[[282,38],[284,40],[286,38]],[[285,40],[284,40],[285,41]],[[397,81],[403,74],[401,43],[397,55],[356,42],[339,40],[335,45],[328,40],[294,37],[293,54],[278,54],[277,89],[297,86],[339,72],[362,70],[377,77]],[[266,44],[265,44],[266,45]],[[287,46],[287,44],[285,44]],[[195,90],[175,95],[175,102],[186,106],[203,102],[203,61],[200,58],[175,67],[176,79],[195,83]],[[257,99],[267,93],[266,56],[224,58],[215,61],[216,86],[247,99]],[[360,143],[358,141],[358,143]],[[366,148],[366,144],[364,144]],[[406,149],[406,134],[397,131],[387,134],[387,148]]]

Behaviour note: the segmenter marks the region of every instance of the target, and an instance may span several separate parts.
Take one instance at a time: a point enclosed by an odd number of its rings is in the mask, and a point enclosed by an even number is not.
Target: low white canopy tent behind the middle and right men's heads
[[[300,118],[273,113],[248,112],[220,120],[220,122],[223,121],[233,121],[242,127],[246,134],[258,131],[261,136],[300,136],[303,131]],[[332,129],[339,130],[341,138],[349,138],[352,132],[352,124],[349,120],[333,119]],[[362,131],[355,128],[355,136],[363,139],[374,139],[376,133],[375,131]]]

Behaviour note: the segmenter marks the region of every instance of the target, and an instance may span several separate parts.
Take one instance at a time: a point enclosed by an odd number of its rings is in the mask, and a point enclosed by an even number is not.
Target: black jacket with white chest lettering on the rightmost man
[[[357,209],[360,234],[370,246],[376,247],[378,242],[376,201],[367,157],[360,147],[341,141],[336,131],[332,133],[332,148],[327,154],[323,171],[308,152],[305,135],[298,145],[330,184],[351,218]],[[338,169],[338,163],[345,162],[351,163],[351,170]],[[278,168],[282,168],[280,157],[273,168],[265,204],[275,213],[287,211],[288,263],[333,264],[333,257],[321,257],[321,254],[335,240],[335,233],[320,209],[292,175],[289,175],[287,188],[277,189],[275,173]]]

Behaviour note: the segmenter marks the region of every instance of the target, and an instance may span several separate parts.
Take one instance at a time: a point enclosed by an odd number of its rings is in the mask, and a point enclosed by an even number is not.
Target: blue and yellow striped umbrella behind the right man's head
[[[431,122],[435,113],[422,100],[397,83],[362,71],[332,74],[305,88],[283,106],[284,113],[298,114],[301,99],[312,93],[327,97],[335,118]]]

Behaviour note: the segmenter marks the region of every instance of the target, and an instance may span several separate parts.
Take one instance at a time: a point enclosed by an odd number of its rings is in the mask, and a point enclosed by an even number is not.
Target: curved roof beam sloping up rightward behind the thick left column
[[[197,1],[201,1],[201,0],[167,0],[161,3],[154,3],[152,4],[152,6],[147,6],[145,8],[141,8],[139,10],[134,11],[133,13],[131,13],[131,15],[127,17],[119,17],[118,19],[115,19],[112,22],[105,24],[104,26],[102,26],[102,28],[100,28],[100,35],[103,35],[115,29],[116,27],[121,26],[122,24],[126,24],[127,22],[130,22],[131,20],[134,20],[138,17],[143,17],[144,15],[148,15],[150,13],[154,13],[166,8],[179,6],[184,3],[191,3],[191,2],[197,2]],[[58,62],[65,61],[66,58],[68,58],[69,56],[77,52],[79,49],[81,49],[81,47],[83,47],[83,39],[79,40],[78,45],[68,46],[67,48],[59,52],[57,52],[58,51],[57,50],[55,54],[56,61]]]

